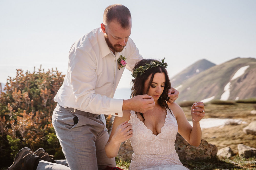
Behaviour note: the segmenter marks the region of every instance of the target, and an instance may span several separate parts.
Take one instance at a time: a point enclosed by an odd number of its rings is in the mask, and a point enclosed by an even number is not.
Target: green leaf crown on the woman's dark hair
[[[136,69],[133,70],[132,72],[132,76],[134,78],[137,77],[138,73],[141,73],[140,75],[142,75],[143,73],[145,73],[145,70],[151,69],[152,67],[164,67],[166,68],[168,66],[168,64],[165,62],[164,63],[164,59],[162,59],[162,62],[160,61],[151,61],[150,63],[145,63],[144,66],[140,66]]]

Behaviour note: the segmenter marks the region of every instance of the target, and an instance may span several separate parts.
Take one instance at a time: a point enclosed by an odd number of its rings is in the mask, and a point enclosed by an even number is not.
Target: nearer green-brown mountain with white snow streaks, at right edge
[[[193,76],[181,81],[182,84],[177,84],[178,87],[172,84],[179,91],[177,101],[207,102],[212,99],[237,100],[256,97],[255,58],[235,58],[190,75]],[[182,80],[180,77],[176,79]]]

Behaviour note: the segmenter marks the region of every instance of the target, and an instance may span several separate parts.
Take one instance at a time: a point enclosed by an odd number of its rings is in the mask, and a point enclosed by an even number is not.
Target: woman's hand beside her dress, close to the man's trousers
[[[115,143],[122,143],[132,137],[132,135],[132,125],[125,121],[118,125],[111,140],[115,141]]]

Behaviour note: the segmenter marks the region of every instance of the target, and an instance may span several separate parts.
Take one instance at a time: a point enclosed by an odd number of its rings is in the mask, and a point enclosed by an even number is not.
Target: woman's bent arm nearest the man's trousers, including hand
[[[128,123],[130,115],[130,110],[125,110],[123,117],[115,116],[109,140],[105,145],[105,152],[108,158],[115,157],[118,154],[121,143],[132,137],[132,125]]]

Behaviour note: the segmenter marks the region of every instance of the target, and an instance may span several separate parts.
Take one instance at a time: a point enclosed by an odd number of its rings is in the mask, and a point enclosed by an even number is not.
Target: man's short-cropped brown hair
[[[127,29],[130,27],[130,18],[132,18],[131,12],[126,6],[113,4],[104,10],[103,23],[108,25],[111,21],[116,20],[122,28]]]

